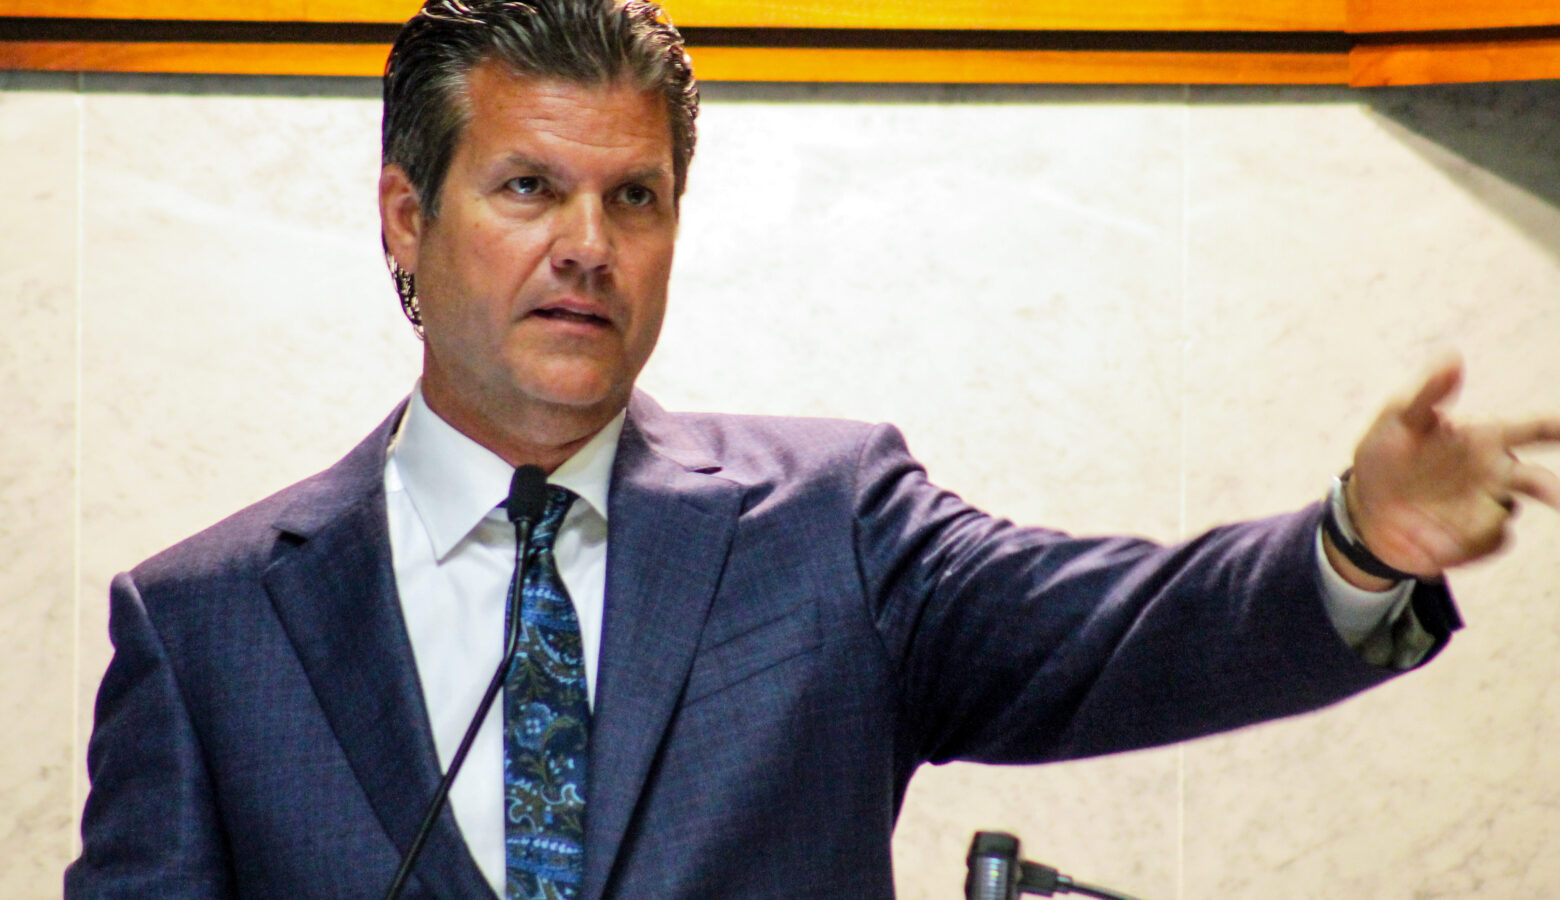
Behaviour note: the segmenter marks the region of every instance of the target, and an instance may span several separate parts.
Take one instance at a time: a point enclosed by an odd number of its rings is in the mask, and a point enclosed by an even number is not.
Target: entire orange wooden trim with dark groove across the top
[[[209,25],[198,34],[181,34],[172,25],[172,33],[153,30],[137,42],[123,44],[58,41],[80,34],[55,28],[33,34],[51,41],[0,42],[0,69],[374,76],[387,50],[378,44],[382,36],[348,36],[321,23],[395,23],[418,5],[420,0],[0,0],[0,16],[298,23],[293,34],[265,34],[275,41],[268,44],[250,42],[261,34],[246,34],[240,25]],[[1377,86],[1560,78],[1560,31],[1532,28],[1560,25],[1560,0],[668,0],[668,8],[683,27],[755,30],[755,44],[766,42],[768,28],[791,28],[792,36],[827,34],[816,31],[822,28],[903,28],[916,34],[1098,31],[1103,37],[1126,33],[1094,48],[1058,39],[1056,48],[1048,50],[973,48],[980,44],[969,42],[964,48],[955,48],[958,42],[942,48],[916,47],[916,41],[903,45],[906,31],[881,31],[883,39],[875,45],[855,47],[822,39],[811,47],[696,47],[699,76],[707,81]],[[1299,34],[1290,44],[1281,39],[1284,33],[1314,33],[1312,44],[1329,34],[1346,41],[1345,22],[1349,31],[1362,34],[1382,28],[1416,33],[1362,37],[1348,55],[1326,45],[1307,47]],[[1468,33],[1494,27],[1529,31]],[[170,25],[161,28],[168,31]],[[223,34],[211,28],[239,31]],[[309,33],[310,28],[317,33]],[[1242,41],[1279,37],[1279,42],[1225,47],[1215,41],[1217,33],[1198,41],[1200,31],[1243,30],[1265,34]],[[1437,37],[1435,30],[1460,33]],[[1164,31],[1164,36],[1133,37],[1133,31]],[[722,41],[719,34],[711,37]],[[746,44],[729,34],[735,33],[727,33],[725,41]]]

